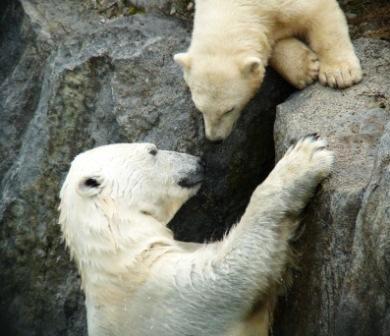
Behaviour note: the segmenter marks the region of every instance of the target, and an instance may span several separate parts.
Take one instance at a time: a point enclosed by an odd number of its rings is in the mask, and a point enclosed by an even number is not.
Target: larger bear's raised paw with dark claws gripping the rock
[[[327,177],[334,163],[333,152],[317,134],[309,134],[291,146],[282,160],[291,174],[313,176],[318,182]]]

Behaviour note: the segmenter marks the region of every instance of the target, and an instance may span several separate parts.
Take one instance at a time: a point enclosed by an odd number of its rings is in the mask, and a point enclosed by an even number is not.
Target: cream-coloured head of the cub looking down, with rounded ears
[[[227,138],[263,81],[265,67],[261,60],[254,56],[240,61],[232,57],[192,57],[190,53],[176,54],[174,59],[183,69],[196,108],[203,114],[207,139]]]

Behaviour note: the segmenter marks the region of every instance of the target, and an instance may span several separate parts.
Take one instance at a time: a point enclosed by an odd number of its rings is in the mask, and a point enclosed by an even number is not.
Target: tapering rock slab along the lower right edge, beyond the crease
[[[389,200],[390,123],[380,139],[356,219],[350,270],[343,283],[335,321],[337,335],[389,335]]]

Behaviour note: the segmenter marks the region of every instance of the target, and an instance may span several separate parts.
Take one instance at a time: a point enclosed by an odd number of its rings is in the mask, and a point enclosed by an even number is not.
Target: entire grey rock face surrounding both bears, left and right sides
[[[189,44],[191,2],[1,2],[2,335],[86,334],[79,277],[56,224],[57,195],[78,152],[150,141],[203,156],[204,186],[170,224],[188,241],[220,238],[272,168],[275,106],[291,88],[271,71],[232,135],[205,141],[172,61]],[[278,156],[291,138],[318,131],[338,163],[305,216],[301,270],[281,300],[275,335],[390,330],[390,50],[384,41],[357,45],[367,72],[361,85],[342,92],[315,85],[279,107]]]

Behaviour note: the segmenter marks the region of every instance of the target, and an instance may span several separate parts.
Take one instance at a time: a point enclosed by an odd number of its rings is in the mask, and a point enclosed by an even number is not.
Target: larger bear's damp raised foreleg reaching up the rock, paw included
[[[248,291],[242,298],[250,298],[249,293],[273,292],[272,287],[280,283],[288,262],[288,240],[316,187],[331,171],[334,155],[326,145],[317,135],[304,137],[255,190],[239,224],[221,243],[214,263],[221,276],[219,288],[238,295]],[[238,303],[240,297],[232,302]],[[261,335],[266,335],[264,325],[262,329]]]

